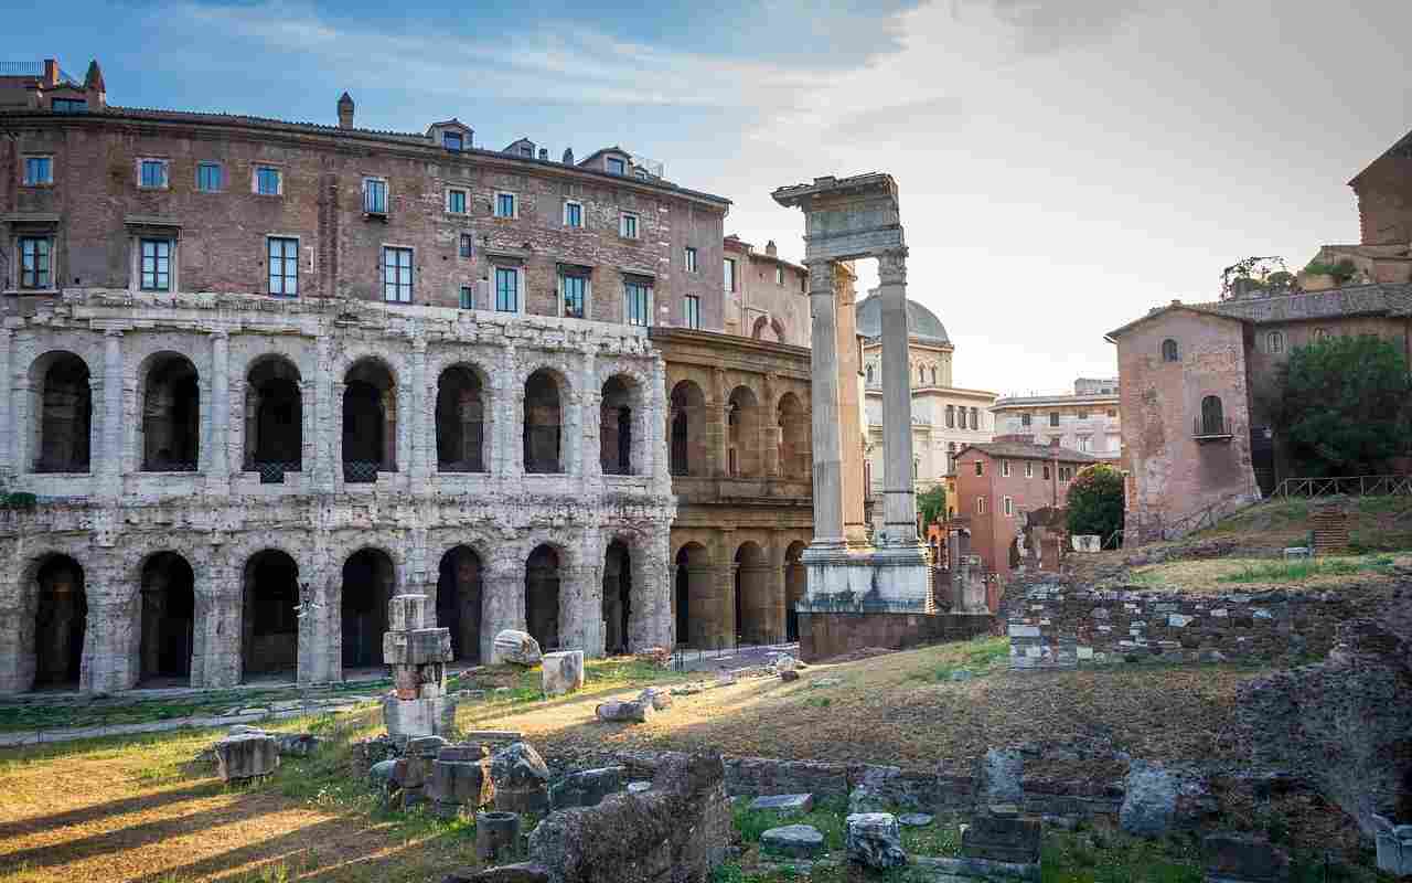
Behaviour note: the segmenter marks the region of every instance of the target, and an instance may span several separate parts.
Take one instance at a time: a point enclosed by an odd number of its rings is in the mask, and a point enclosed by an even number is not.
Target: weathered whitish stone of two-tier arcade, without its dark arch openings
[[[31,369],[55,350],[90,372],[85,472],[35,472],[42,377]],[[198,376],[193,470],[144,470],[144,391],[161,353],[189,359]],[[247,379],[271,356],[297,372],[302,410],[302,461],[277,483],[243,456]],[[360,363],[393,377],[384,393],[393,462],[369,482],[349,480],[343,451],[346,379]],[[455,365],[486,379],[484,472],[438,466],[436,391]],[[541,369],[558,381],[562,470],[525,475],[524,390]],[[93,691],[128,688],[141,675],[141,588],[158,552],[179,555],[193,574],[189,677],[198,687],[247,674],[244,591],[256,579],[251,559],[268,550],[288,555],[315,605],[297,623],[301,682],[342,678],[345,564],[364,550],[385,562],[381,592],[425,593],[435,608],[442,557],[470,548],[480,585],[465,591],[480,593],[484,657],[497,630],[525,627],[525,562],[548,545],[558,559],[549,612],[558,643],[594,656],[604,648],[604,554],[617,540],[631,562],[628,644],[671,641],[665,369],[642,329],[360,301],[72,291],[6,321],[0,376],[0,475],[42,500],[0,518],[0,559],[13,565],[0,575],[0,691],[32,684],[38,576],[55,555],[82,571],[75,680]],[[600,469],[599,400],[613,377],[631,394],[631,475]]]

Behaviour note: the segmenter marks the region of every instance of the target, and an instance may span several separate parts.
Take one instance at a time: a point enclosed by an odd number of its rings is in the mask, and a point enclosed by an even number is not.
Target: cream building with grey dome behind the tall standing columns
[[[882,492],[882,325],[877,294],[858,301],[856,322],[863,339],[863,374],[867,396],[868,490]],[[912,482],[918,493],[947,485],[956,472],[956,454],[966,445],[990,441],[994,434],[994,393],[952,386],[956,346],[946,326],[926,307],[909,300],[908,384],[912,390]],[[955,497],[949,497],[955,499]],[[949,509],[953,504],[949,504]],[[880,513],[874,517],[881,517]]]

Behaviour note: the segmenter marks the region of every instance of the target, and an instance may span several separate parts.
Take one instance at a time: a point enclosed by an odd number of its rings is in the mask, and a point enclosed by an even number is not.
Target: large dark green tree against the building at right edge
[[[1406,451],[1412,377],[1374,335],[1298,346],[1279,369],[1275,429],[1300,475],[1371,475]]]

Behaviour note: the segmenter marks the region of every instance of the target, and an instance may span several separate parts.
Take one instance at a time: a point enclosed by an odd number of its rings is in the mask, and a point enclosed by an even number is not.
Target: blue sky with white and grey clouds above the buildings
[[[0,6],[14,0],[0,0]],[[487,8],[493,6],[493,8]],[[1412,3],[613,0],[64,4],[0,59],[103,66],[116,105],[623,144],[803,256],[777,186],[890,172],[908,295],[956,386],[1114,376],[1103,335],[1251,254],[1358,239],[1347,181],[1412,129]],[[1401,42],[1401,45],[1399,45]],[[861,287],[875,284],[871,261]]]

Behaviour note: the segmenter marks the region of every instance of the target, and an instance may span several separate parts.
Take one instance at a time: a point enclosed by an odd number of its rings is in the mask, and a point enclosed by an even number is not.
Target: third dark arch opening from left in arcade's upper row
[[[304,469],[304,397],[298,366],[287,356],[267,353],[246,372],[246,472],[278,483],[285,472]]]

